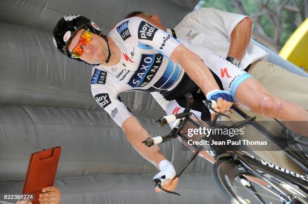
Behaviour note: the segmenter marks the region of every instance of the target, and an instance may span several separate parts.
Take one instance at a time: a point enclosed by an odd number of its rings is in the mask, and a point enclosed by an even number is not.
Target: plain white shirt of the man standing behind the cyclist
[[[246,17],[212,8],[201,8],[188,14],[174,30],[177,38],[204,46],[226,58],[230,47],[231,33],[236,25]],[[171,34],[169,29],[168,33]],[[250,42],[241,61],[240,69],[244,70],[259,59],[267,61],[268,55],[262,48]]]

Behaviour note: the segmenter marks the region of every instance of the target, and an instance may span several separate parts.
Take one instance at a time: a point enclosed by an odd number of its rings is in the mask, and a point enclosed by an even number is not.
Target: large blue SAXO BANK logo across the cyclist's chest
[[[163,55],[146,55],[141,56],[138,69],[130,78],[128,84],[131,87],[143,87],[147,85],[156,75],[163,61]]]

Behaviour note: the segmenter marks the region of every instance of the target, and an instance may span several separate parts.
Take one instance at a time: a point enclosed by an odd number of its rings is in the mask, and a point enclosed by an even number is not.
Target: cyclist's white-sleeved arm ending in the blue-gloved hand
[[[131,18],[128,24],[130,33],[139,44],[156,49],[174,63],[182,66],[204,94],[210,93],[210,96],[219,96],[221,98],[219,100],[219,97],[213,98],[218,102],[218,111],[224,111],[232,105],[232,96],[226,91],[218,91],[219,87],[214,77],[198,55],[188,50],[167,32],[141,18]]]

